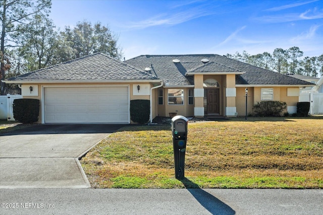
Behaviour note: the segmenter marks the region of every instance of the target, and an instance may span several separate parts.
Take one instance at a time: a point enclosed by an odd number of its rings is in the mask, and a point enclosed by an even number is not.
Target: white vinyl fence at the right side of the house
[[[299,95],[299,102],[310,102],[310,115],[323,115],[323,93],[301,93]]]

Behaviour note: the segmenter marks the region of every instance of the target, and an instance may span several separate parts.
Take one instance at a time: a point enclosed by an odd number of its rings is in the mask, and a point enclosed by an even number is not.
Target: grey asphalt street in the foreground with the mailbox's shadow
[[[0,214],[322,214],[323,190],[0,189]]]

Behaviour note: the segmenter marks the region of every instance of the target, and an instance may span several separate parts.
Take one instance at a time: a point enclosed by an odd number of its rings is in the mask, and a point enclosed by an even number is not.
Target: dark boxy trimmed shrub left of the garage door
[[[13,102],[14,118],[24,124],[38,121],[38,99],[15,99]]]

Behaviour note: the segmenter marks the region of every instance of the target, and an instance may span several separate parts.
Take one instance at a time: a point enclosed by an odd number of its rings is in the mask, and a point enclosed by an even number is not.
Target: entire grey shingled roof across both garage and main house
[[[150,69],[146,70],[147,67]],[[23,83],[163,80],[169,86],[192,86],[193,75],[199,73],[236,74],[236,85],[312,85],[218,54],[140,55],[122,62],[105,54],[95,53],[7,81]]]

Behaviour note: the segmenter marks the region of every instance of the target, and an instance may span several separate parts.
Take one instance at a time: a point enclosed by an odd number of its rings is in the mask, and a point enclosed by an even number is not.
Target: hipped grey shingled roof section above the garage
[[[15,82],[109,82],[128,80],[151,81],[158,80],[158,78],[144,69],[138,69],[102,53],[95,53],[8,79],[8,81]]]

